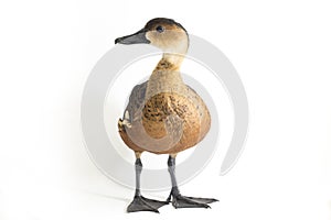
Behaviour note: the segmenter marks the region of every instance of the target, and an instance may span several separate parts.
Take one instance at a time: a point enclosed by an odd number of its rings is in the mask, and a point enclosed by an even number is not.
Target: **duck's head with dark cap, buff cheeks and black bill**
[[[189,48],[186,30],[172,19],[152,19],[143,29],[127,36],[118,37],[115,44],[150,44],[163,53],[185,54]]]

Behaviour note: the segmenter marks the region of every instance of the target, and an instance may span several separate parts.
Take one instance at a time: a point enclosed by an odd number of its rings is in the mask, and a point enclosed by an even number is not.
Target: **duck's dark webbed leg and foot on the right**
[[[168,170],[171,177],[172,189],[167,201],[170,202],[172,198],[174,208],[211,208],[207,204],[218,201],[217,199],[188,197],[180,194],[175,180],[175,155],[169,155]]]

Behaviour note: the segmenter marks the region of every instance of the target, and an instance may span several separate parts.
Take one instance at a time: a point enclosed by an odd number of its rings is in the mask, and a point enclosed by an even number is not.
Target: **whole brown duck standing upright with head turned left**
[[[188,86],[180,73],[189,50],[186,30],[167,18],[156,18],[138,32],[115,40],[115,44],[149,44],[162,51],[162,57],[149,79],[134,87],[118,132],[135,152],[136,193],[127,212],[153,211],[172,204],[174,208],[210,208],[214,198],[183,196],[175,177],[177,155],[194,147],[211,128],[211,114],[199,94]],[[166,201],[146,198],[140,191],[141,154],[169,154],[171,191]]]

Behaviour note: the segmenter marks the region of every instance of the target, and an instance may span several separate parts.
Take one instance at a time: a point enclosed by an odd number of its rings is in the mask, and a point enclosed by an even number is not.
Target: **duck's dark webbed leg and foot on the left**
[[[127,212],[136,212],[136,211],[153,211],[159,212],[158,209],[164,205],[168,205],[168,201],[158,201],[154,199],[145,198],[140,193],[140,174],[142,170],[142,163],[140,160],[140,154],[138,154],[136,158],[136,194],[134,200],[127,208]]]

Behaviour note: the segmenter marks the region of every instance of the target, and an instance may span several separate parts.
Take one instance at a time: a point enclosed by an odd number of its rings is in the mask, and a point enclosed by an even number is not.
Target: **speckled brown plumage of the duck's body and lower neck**
[[[132,89],[125,111],[128,119],[124,116],[118,129],[126,145],[135,152],[175,154],[196,145],[210,130],[211,117],[205,103],[183,82],[178,69],[179,66],[163,58],[149,80]],[[125,125],[124,120],[128,120],[130,127]],[[182,133],[175,134],[181,128]],[[158,143],[153,148],[141,144],[147,144],[148,140],[142,140],[146,134],[154,140],[167,135],[173,135],[172,139],[180,135],[180,139],[172,145],[169,140],[163,145]]]

